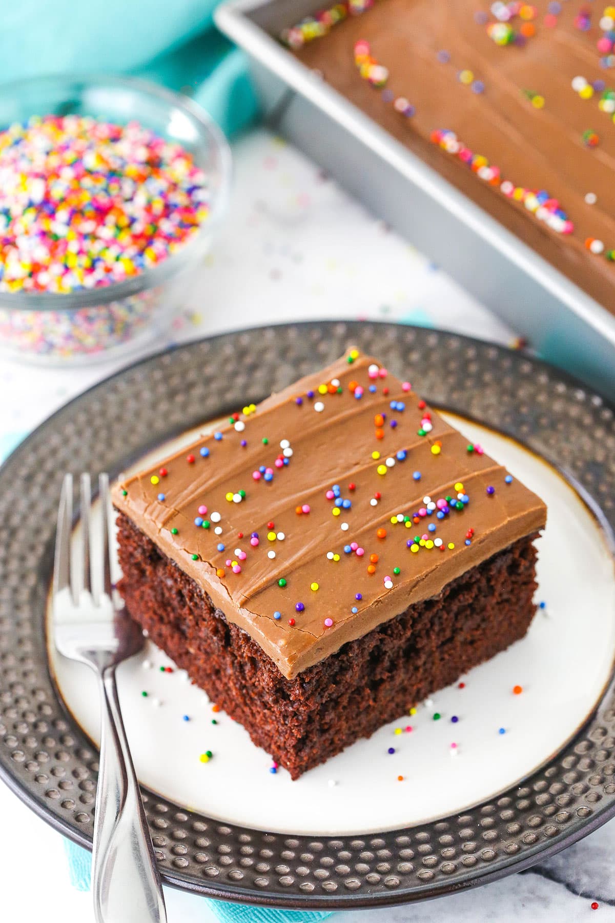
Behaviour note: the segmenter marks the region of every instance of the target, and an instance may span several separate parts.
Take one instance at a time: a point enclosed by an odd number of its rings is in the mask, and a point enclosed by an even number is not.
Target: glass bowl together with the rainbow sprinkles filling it
[[[145,81],[0,88],[0,349],[64,364],[160,340],[230,174],[207,114]]]

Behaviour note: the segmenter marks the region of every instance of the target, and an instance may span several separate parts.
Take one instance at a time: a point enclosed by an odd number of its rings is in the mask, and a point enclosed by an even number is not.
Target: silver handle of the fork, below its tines
[[[166,923],[160,874],[126,739],[114,666],[101,677],[92,894],[96,923]]]

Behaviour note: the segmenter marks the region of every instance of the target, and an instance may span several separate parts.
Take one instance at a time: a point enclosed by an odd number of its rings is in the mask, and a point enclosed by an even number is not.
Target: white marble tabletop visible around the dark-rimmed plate
[[[175,341],[262,323],[333,317],[395,319],[511,341],[513,332],[501,321],[296,151],[259,131],[236,146],[235,157],[229,220],[186,299],[172,332]],[[34,370],[0,361],[0,456],[115,367]],[[90,923],[90,895],[71,887],[60,836],[2,785],[0,818],[0,919]],[[351,912],[344,923],[573,923],[585,917],[615,923],[614,849],[615,824],[609,824],[534,869],[479,891],[429,904]],[[592,901],[599,903],[596,912]],[[216,918],[207,902],[194,895],[168,890],[167,905],[170,923]]]

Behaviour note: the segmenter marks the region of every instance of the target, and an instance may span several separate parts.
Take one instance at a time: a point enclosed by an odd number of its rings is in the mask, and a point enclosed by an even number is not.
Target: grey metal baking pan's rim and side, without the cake
[[[280,45],[280,31],[316,8],[230,0],[216,10],[219,29],[249,56],[268,123],[538,354],[615,397],[615,316]]]

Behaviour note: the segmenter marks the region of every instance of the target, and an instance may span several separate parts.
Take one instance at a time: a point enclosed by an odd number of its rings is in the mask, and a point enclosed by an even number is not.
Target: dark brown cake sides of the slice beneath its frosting
[[[124,513],[118,525],[130,615],[292,779],[523,638],[536,611],[533,533],[287,679]]]

